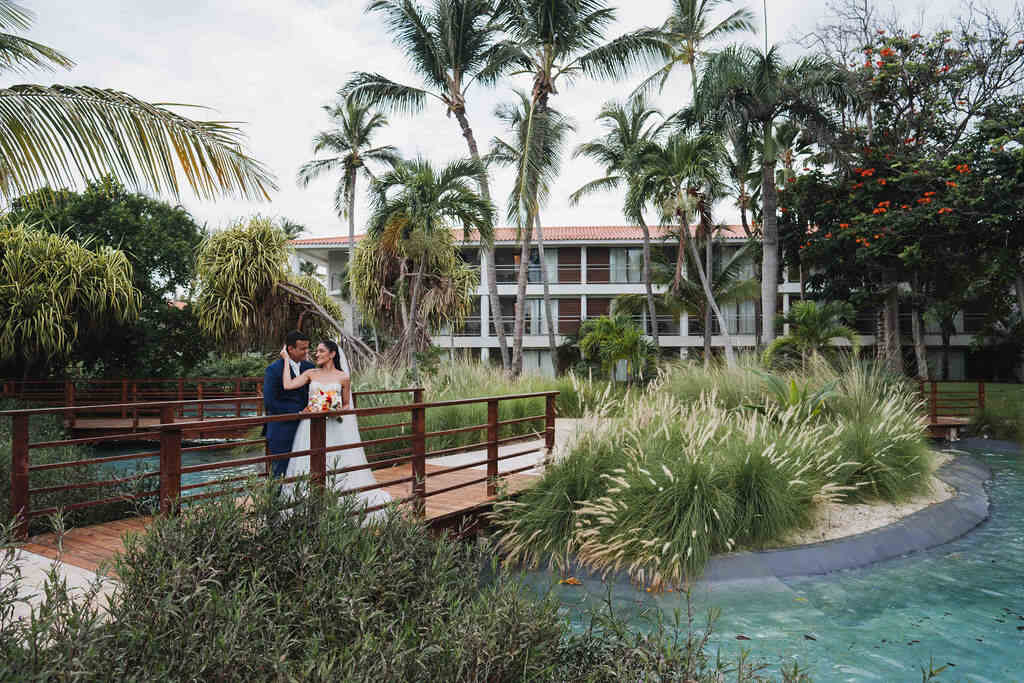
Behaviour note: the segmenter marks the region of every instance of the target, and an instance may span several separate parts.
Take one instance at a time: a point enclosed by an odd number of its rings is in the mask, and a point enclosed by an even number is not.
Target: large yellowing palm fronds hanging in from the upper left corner
[[[57,50],[15,33],[33,13],[0,0],[0,71],[70,69]],[[0,88],[0,195],[10,200],[45,186],[111,176],[140,191],[178,197],[187,184],[202,199],[269,199],[273,175],[249,157],[234,126],[194,121],[118,90],[88,86]]]

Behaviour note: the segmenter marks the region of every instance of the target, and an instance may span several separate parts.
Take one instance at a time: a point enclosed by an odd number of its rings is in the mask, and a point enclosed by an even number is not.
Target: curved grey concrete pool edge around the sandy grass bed
[[[957,445],[1021,453],[1020,446],[1014,443],[996,444],[987,439],[965,439]],[[989,499],[984,484],[991,479],[992,472],[987,465],[969,455],[957,455],[939,468],[936,476],[953,486],[956,495],[863,533],[791,548],[715,555],[697,583],[710,586],[855,569],[955,541],[988,519]],[[592,572],[578,562],[573,562],[568,573],[601,581],[600,572]],[[609,573],[603,582],[636,585],[625,571]]]

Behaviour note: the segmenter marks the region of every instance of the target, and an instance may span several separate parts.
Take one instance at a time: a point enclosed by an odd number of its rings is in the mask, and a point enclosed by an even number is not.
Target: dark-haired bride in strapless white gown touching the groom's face
[[[335,392],[342,397],[342,409],[348,410],[352,407],[352,387],[348,374],[348,359],[345,352],[333,341],[323,341],[316,345],[314,358],[316,367],[307,370],[296,378],[292,378],[288,372],[288,351],[282,349],[282,357],[285,358],[282,380],[286,389],[298,389],[305,384],[309,384],[309,395],[314,396],[317,392]],[[303,410],[304,413],[311,411],[312,400]],[[341,445],[343,443],[358,443],[362,438],[359,436],[359,426],[354,415],[344,416],[344,420],[339,422],[336,418],[327,419],[327,445]],[[292,451],[307,451],[309,449],[309,420],[299,423],[299,428],[295,432],[295,440],[292,441]],[[343,467],[353,467],[367,464],[367,454],[362,446],[334,451],[327,454],[327,469],[335,470]],[[309,456],[292,458],[288,461],[286,478],[309,474]],[[373,486],[377,483],[373,472],[367,469],[354,470],[344,474],[330,475],[328,477],[330,485],[336,490],[350,490],[364,486]],[[295,484],[287,483],[283,487],[283,494],[288,498],[294,495]],[[391,502],[391,496],[383,488],[373,488],[355,494],[360,507],[373,508]],[[385,510],[375,510],[371,513],[371,518],[382,516]]]

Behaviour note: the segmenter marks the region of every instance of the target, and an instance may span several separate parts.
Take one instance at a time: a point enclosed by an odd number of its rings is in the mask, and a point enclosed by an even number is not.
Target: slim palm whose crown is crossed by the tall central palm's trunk
[[[514,221],[515,217],[523,211],[523,203],[537,199],[538,207],[534,212],[535,227],[537,228],[537,248],[541,258],[541,284],[544,288],[544,311],[548,318],[548,348],[551,357],[554,359],[557,347],[555,345],[555,333],[557,332],[557,321],[551,311],[551,289],[548,283],[548,262],[544,256],[544,226],[541,222],[541,207],[547,203],[551,195],[551,184],[558,177],[561,170],[562,153],[564,152],[566,137],[575,128],[572,123],[559,112],[548,109],[544,116],[535,115],[534,125],[537,130],[544,128],[538,135],[529,136],[527,125],[530,120],[529,95],[521,90],[515,91],[518,100],[511,104],[501,104],[495,111],[495,116],[505,124],[506,128],[514,135],[511,142],[507,142],[500,137],[495,137],[490,141],[490,153],[487,155],[488,163],[499,166],[511,166],[515,168],[516,177],[527,177],[526,193],[522,193],[519,183],[512,186],[508,199],[509,220]],[[530,142],[544,145],[542,150],[529,150]]]

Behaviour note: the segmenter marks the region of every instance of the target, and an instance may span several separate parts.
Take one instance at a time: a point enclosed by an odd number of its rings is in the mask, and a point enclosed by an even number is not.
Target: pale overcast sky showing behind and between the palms
[[[310,139],[329,127],[321,109],[331,102],[352,71],[373,71],[416,83],[401,55],[390,44],[380,18],[366,15],[365,0],[23,0],[38,14],[29,36],[73,57],[71,73],[32,73],[17,82],[91,85],[124,90],[150,101],[202,104],[211,111],[182,112],[194,118],[242,122],[249,152],[278,176],[281,189],[272,202],[232,200],[201,202],[182,197],[201,222],[211,228],[254,213],[287,216],[307,227],[310,236],[347,234],[347,223],[334,214],[336,178],[324,178],[306,189],[296,185],[299,166],[312,155]],[[618,24],[609,36],[659,24],[669,0],[618,0]],[[741,4],[741,2],[736,3]],[[762,17],[761,2],[748,2]],[[1013,0],[992,0],[1001,13]],[[769,42],[793,40],[826,16],[822,0],[767,0]],[[900,0],[900,11],[915,15],[921,7]],[[961,6],[954,0],[930,0],[928,15],[935,20]],[[759,20],[763,20],[760,18]],[[761,34],[752,38],[759,43]],[[787,47],[795,54],[795,46]],[[570,115],[578,132],[572,146],[600,134],[593,119],[603,101],[623,97],[640,80],[562,84],[552,104]],[[502,84],[494,90],[471,91],[468,113],[477,141],[486,146],[503,135],[493,112],[509,100],[511,88],[528,82]],[[685,77],[671,81],[658,105],[671,112],[688,100]],[[439,108],[415,118],[392,116],[378,138],[402,155],[422,155],[442,163],[466,155],[465,141],[454,119]],[[593,197],[570,208],[567,196],[598,177],[600,169],[583,160],[566,160],[543,220],[549,225],[620,224],[625,222],[622,198]],[[510,178],[494,181],[501,215]],[[366,183],[360,181],[360,190]],[[365,193],[360,191],[360,200]],[[366,217],[356,211],[356,231]],[[736,220],[727,206],[721,220]]]

